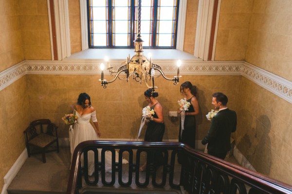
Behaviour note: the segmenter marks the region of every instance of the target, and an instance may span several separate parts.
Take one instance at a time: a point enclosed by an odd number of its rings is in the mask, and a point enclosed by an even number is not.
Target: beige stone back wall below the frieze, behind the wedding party
[[[100,86],[100,75],[26,75],[32,120],[49,118],[59,126],[60,137],[68,137],[68,126],[61,120],[64,114],[72,112],[79,93],[91,96],[103,138],[135,139],[140,126],[142,108],[147,106],[144,98],[146,85],[143,83],[116,80],[104,89]],[[111,79],[106,75],[106,79]],[[214,108],[212,93],[222,91],[230,98],[230,108],[236,109],[238,86],[241,76],[185,75],[181,79],[191,81],[198,87],[201,113],[197,116],[197,140],[206,134],[210,122],[205,115]],[[177,110],[177,101],[182,98],[180,84],[159,78],[156,81],[158,101],[163,106],[166,130],[164,140],[177,140],[179,120],[171,122],[170,110]],[[144,130],[145,132],[145,130]],[[144,133],[142,138],[144,137]]]

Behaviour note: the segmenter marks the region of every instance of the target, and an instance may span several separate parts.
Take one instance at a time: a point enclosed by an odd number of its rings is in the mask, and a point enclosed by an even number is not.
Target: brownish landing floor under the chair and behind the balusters
[[[126,157],[125,157],[126,158]],[[7,191],[9,194],[65,194],[67,190],[68,184],[68,177],[69,177],[69,168],[70,168],[70,148],[69,147],[60,147],[60,152],[51,152],[46,154],[47,162],[43,163],[41,155],[35,155],[31,158],[28,158],[23,166],[21,167],[20,171],[18,172],[17,176],[11,182],[10,186],[8,187]],[[234,157],[230,157],[229,159],[226,158],[225,160],[237,163]],[[127,173],[127,165],[125,165],[123,174]],[[143,172],[144,173],[144,172]],[[141,173],[140,181],[144,182],[144,175]],[[109,173],[109,177],[111,174]],[[134,175],[134,174],[133,174]],[[159,175],[158,175],[159,176]],[[117,174],[116,174],[117,177]],[[123,176],[124,177],[124,176]],[[125,176],[127,177],[127,176]],[[176,166],[175,168],[175,177],[176,177],[176,184],[179,183],[180,178],[180,165]],[[101,180],[101,179],[99,179]],[[107,180],[107,181],[110,181]],[[128,180],[125,180],[127,182]],[[150,180],[151,181],[151,180]],[[124,193],[145,193],[151,190],[154,190],[152,184],[146,190],[138,188],[135,184],[135,179],[133,176],[133,182],[131,188],[124,188],[121,187],[118,182],[116,181],[113,185],[113,188],[119,189],[119,192]],[[85,184],[83,184],[85,185]],[[112,188],[106,187],[102,185],[101,181],[98,182],[97,186],[99,187],[99,191],[101,193],[110,192]],[[83,191],[90,192],[92,187],[87,186]],[[181,193],[177,190],[172,190],[169,186],[164,187],[164,189],[157,190],[159,193],[163,194],[166,191],[170,192],[173,191],[174,194]]]

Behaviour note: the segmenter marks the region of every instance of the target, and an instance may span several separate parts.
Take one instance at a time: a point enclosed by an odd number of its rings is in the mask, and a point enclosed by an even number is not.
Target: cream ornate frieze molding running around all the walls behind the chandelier
[[[22,61],[0,72],[0,90],[26,74],[100,74],[98,64],[101,62],[102,60]],[[117,70],[122,62],[123,60],[112,60],[111,66]],[[167,75],[176,74],[175,63],[175,60],[155,61]],[[182,75],[242,75],[292,103],[291,81],[247,62],[185,60],[180,72]]]

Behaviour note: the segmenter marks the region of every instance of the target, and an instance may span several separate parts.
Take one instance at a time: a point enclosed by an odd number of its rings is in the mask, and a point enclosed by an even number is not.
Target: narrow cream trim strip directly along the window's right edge
[[[183,51],[183,44],[184,44],[186,5],[187,5],[187,0],[180,0],[179,23],[178,23],[178,32],[177,32],[177,47],[176,47],[176,49],[180,51]]]

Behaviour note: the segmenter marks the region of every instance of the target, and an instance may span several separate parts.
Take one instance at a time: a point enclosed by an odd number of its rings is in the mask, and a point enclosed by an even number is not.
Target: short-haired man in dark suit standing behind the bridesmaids
[[[208,143],[208,154],[220,159],[224,159],[231,149],[230,136],[235,132],[237,125],[236,112],[228,109],[227,102],[225,94],[221,92],[213,94],[212,104],[219,112],[213,117],[210,129],[202,140],[203,145]]]

